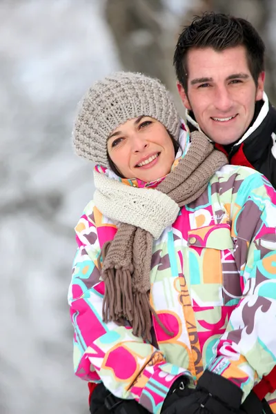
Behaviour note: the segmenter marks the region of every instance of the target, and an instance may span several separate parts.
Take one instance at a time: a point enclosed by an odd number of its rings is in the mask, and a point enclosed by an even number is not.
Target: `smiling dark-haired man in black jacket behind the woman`
[[[264,92],[264,50],[248,21],[210,12],[181,32],[174,65],[190,130],[276,186],[276,110]]]

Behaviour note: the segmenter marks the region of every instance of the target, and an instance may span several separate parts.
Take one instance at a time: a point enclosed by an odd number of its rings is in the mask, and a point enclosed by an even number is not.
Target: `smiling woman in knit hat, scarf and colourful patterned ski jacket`
[[[104,385],[92,411],[107,395],[113,412],[239,411],[275,366],[273,187],[141,74],[95,83],[73,138],[97,164],[69,291],[76,375]]]

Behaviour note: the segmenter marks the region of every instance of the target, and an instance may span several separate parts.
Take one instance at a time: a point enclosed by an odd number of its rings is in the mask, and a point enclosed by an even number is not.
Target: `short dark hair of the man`
[[[257,86],[259,74],[264,70],[264,42],[249,21],[223,13],[206,12],[196,16],[179,35],[173,64],[177,79],[188,90],[187,53],[190,49],[213,48],[221,51],[244,46],[248,68]]]

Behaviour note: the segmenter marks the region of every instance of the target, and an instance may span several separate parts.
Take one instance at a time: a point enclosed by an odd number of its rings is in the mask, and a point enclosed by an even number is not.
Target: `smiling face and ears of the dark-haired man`
[[[256,87],[244,46],[216,52],[192,49],[187,55],[188,91],[177,85],[187,109],[213,141],[231,144],[246,132],[253,119],[255,101],[263,97],[264,72]]]

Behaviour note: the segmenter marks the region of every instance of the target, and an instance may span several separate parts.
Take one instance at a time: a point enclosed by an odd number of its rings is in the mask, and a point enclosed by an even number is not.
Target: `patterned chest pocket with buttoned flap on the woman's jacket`
[[[193,306],[233,306],[242,295],[229,224],[188,231],[188,273]]]

